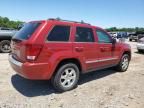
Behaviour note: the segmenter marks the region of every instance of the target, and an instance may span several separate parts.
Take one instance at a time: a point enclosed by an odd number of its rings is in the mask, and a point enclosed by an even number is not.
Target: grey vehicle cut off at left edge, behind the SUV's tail
[[[8,53],[11,51],[10,41],[16,32],[12,28],[0,27],[0,52]]]

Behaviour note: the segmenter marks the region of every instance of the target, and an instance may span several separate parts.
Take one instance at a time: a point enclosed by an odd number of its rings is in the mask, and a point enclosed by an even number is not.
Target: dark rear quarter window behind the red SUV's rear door
[[[48,41],[69,41],[70,26],[55,26],[49,33]]]

